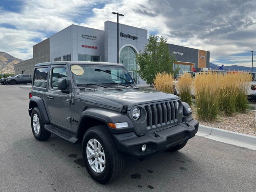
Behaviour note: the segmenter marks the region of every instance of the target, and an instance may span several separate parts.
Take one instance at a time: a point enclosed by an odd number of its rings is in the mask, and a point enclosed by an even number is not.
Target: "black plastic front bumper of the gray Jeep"
[[[144,157],[156,152],[161,152],[181,144],[195,136],[198,131],[199,123],[191,120],[188,123],[182,122],[176,126],[149,132],[144,136],[136,136],[134,132],[114,135],[119,144],[120,152],[132,157]],[[143,144],[146,144],[146,150],[141,151]]]

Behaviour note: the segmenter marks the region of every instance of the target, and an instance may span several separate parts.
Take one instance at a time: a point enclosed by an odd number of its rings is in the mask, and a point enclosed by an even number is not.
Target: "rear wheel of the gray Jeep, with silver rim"
[[[38,107],[35,107],[31,113],[31,128],[34,137],[39,141],[47,140],[51,133],[44,129],[41,112]]]

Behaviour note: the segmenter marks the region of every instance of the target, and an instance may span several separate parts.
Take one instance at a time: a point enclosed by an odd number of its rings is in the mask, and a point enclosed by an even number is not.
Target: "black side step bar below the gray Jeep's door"
[[[56,128],[55,126],[53,126],[51,124],[45,124],[44,129],[54,135],[57,135],[57,136],[63,138],[64,140],[67,140],[67,141],[73,143],[73,144],[75,144],[78,141],[78,138],[75,138],[75,136],[76,136],[75,134],[71,134],[64,130]]]

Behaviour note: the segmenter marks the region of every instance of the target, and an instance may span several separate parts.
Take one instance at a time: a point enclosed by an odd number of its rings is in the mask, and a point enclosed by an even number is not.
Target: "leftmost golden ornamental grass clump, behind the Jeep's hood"
[[[174,93],[174,82],[173,82],[173,76],[171,73],[158,72],[156,74],[153,84],[156,90],[158,91],[171,93],[171,94]]]

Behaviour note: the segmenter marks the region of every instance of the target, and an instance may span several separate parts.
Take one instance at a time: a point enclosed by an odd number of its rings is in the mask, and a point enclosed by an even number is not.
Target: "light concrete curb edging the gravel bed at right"
[[[198,136],[256,150],[256,136],[199,124]]]

